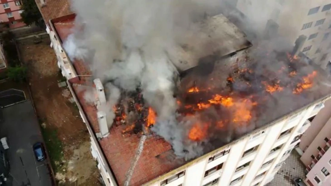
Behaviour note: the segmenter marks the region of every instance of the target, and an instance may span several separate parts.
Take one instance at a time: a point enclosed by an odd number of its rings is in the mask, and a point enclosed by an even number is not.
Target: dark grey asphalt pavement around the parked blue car
[[[8,138],[8,156],[13,186],[51,186],[47,161],[36,162],[32,151],[35,142],[42,142],[38,120],[30,101],[4,108],[0,136]]]

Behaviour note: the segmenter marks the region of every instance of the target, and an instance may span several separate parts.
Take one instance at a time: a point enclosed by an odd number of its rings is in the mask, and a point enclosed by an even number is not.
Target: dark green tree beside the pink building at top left
[[[43,25],[41,14],[34,0],[22,0],[21,9],[23,11],[21,17],[26,25],[31,25],[32,23],[38,26]]]

